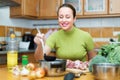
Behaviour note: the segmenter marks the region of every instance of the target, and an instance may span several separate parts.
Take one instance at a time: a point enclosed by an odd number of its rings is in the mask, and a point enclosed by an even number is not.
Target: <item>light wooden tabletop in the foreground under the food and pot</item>
[[[12,73],[8,72],[7,67],[0,68],[0,79],[3,80],[29,80],[28,77],[22,77],[13,75]],[[44,77],[41,79],[35,80],[64,80],[64,76],[60,77]],[[74,80],[94,80],[94,76],[91,73],[86,73],[86,75],[81,75],[79,78],[75,78]]]

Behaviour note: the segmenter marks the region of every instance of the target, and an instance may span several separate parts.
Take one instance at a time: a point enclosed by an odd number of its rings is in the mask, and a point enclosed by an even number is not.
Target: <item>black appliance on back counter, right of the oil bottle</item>
[[[34,35],[32,35],[31,33],[26,32],[26,33],[22,36],[22,41],[23,41],[23,42],[30,42],[28,49],[35,49]]]

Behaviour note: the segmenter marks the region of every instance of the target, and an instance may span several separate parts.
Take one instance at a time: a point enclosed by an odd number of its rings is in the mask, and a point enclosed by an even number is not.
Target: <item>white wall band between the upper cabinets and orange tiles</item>
[[[0,25],[34,28],[33,24],[40,24],[40,27],[49,28],[49,24],[53,24],[51,27],[58,27],[57,20],[13,19],[9,18],[9,15],[9,7],[0,7]],[[44,25],[46,23],[47,25]],[[120,17],[77,19],[75,24],[78,27],[119,27]]]

